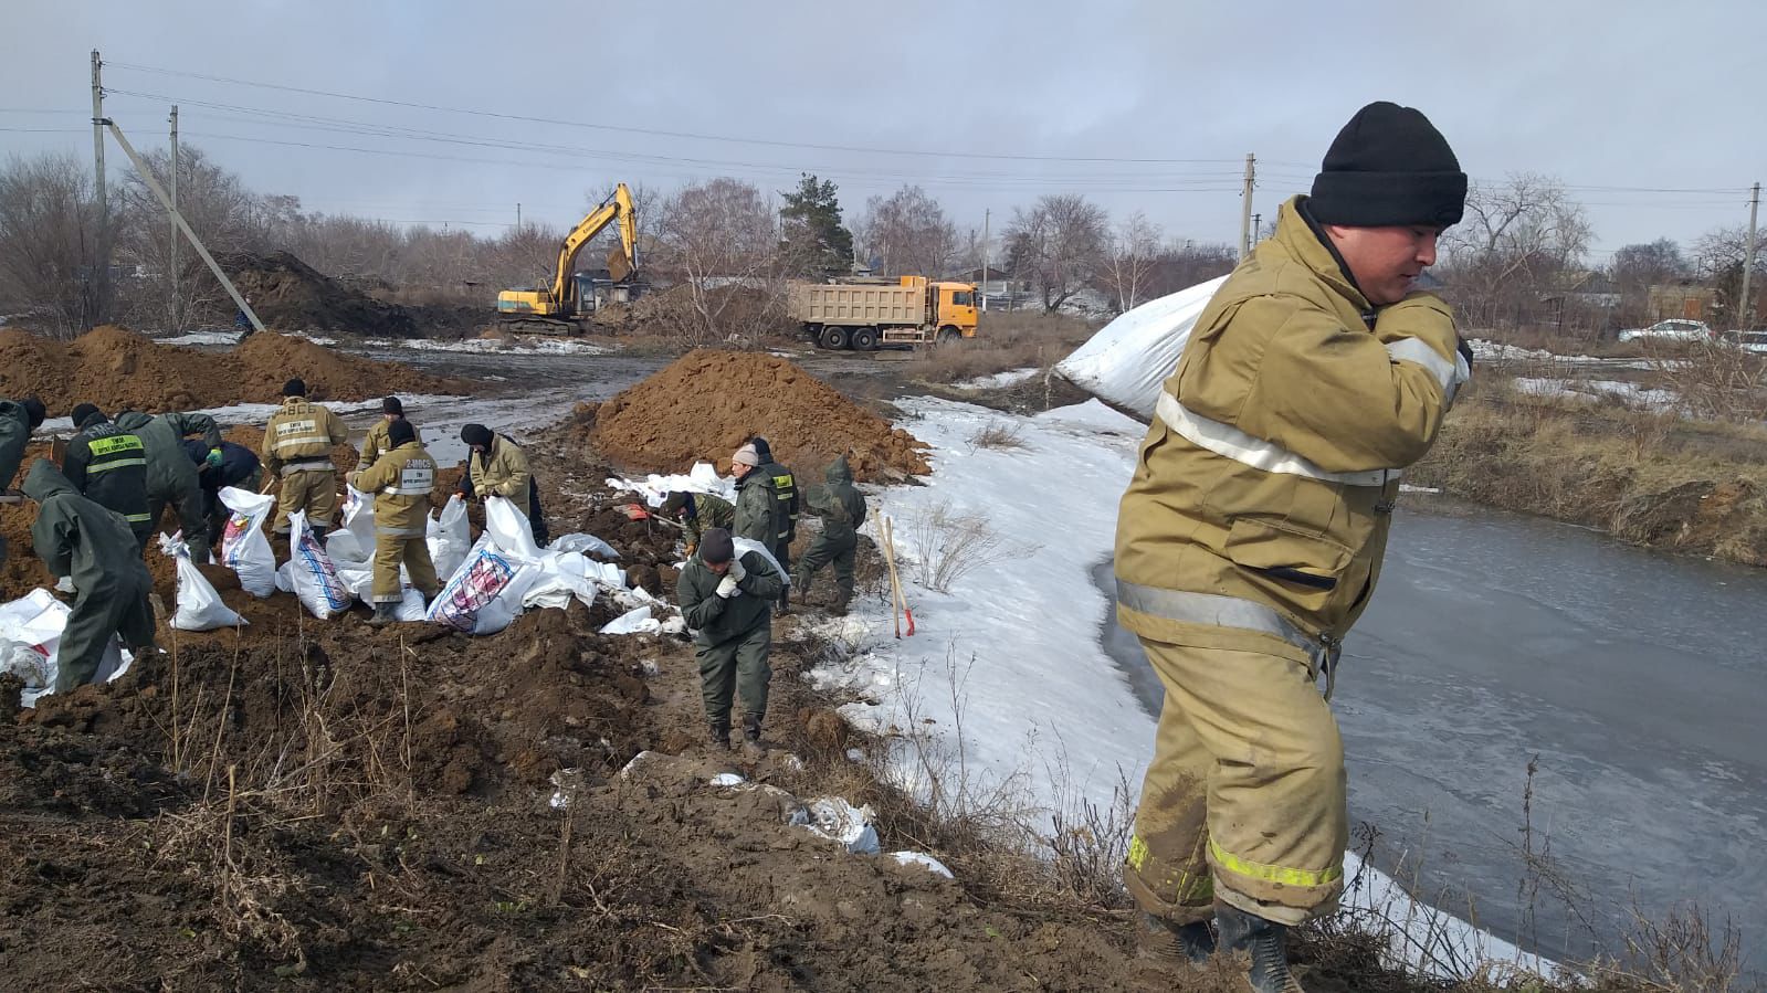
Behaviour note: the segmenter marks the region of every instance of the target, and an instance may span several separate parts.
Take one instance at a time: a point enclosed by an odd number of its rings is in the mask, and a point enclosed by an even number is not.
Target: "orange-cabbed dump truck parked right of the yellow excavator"
[[[926,276],[903,276],[896,283],[793,283],[792,320],[822,348],[952,345],[975,337],[975,284]]]

